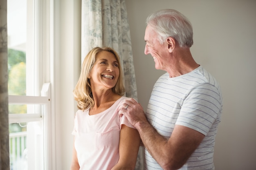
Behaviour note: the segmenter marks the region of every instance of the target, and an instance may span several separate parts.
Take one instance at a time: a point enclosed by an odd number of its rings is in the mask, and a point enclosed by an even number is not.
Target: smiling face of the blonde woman
[[[113,88],[119,77],[119,63],[116,56],[108,51],[101,51],[90,71],[91,86],[96,88]]]

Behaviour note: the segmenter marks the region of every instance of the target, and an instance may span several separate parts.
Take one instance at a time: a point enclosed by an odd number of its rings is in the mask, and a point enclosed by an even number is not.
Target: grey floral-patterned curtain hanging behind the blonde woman
[[[115,49],[124,70],[126,97],[137,100],[125,0],[82,0],[81,15],[81,61],[96,46]],[[140,148],[135,170],[142,170],[143,164],[143,149]]]

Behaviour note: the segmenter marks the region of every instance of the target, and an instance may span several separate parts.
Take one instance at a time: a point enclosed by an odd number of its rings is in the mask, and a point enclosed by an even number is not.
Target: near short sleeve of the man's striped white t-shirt
[[[220,113],[220,95],[216,87],[200,84],[184,100],[176,124],[207,135]]]

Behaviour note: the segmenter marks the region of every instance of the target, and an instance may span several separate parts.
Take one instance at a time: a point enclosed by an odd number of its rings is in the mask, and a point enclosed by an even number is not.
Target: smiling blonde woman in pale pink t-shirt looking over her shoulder
[[[74,120],[71,170],[133,170],[140,137],[118,114],[124,97],[118,54],[109,47],[92,49],[83,61],[74,89],[79,110]],[[124,108],[125,109],[125,108]]]

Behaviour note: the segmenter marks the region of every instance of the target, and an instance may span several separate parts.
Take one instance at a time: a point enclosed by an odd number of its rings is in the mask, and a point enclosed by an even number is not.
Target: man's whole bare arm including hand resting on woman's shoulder
[[[124,109],[126,105],[128,108]],[[142,106],[133,99],[120,105],[119,114],[137,128],[144,147],[164,170],[181,168],[204,138],[202,133],[180,125],[175,125],[169,139],[164,138],[149,124]]]

